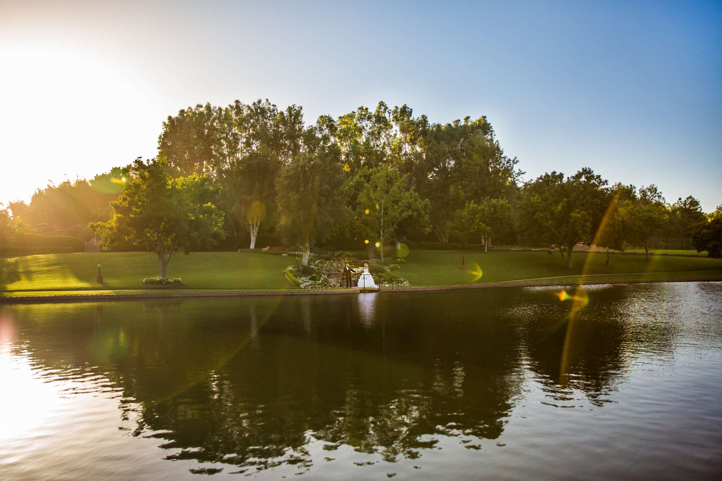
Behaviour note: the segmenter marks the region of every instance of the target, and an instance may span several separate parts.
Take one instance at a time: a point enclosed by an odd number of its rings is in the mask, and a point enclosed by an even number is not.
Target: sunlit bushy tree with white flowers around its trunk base
[[[176,252],[188,254],[222,238],[223,213],[212,201],[219,187],[206,175],[173,179],[165,163],[138,158],[129,169],[123,193],[110,203],[108,222],[91,223],[104,248],[130,242],[155,251],[160,277]]]

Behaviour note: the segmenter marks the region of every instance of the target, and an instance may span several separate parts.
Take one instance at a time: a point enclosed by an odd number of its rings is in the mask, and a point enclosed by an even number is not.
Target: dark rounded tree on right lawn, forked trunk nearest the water
[[[529,239],[559,247],[567,269],[578,242],[591,242],[609,204],[607,181],[585,167],[539,176],[524,187],[521,226]],[[566,256],[565,256],[566,250]]]

